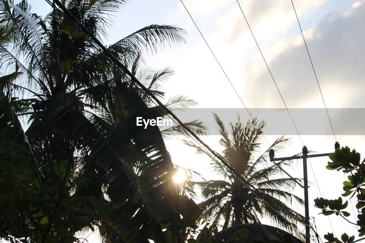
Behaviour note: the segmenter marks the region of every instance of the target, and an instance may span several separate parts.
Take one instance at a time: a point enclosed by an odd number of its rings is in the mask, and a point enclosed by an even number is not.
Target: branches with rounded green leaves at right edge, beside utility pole
[[[328,170],[342,170],[345,174],[350,174],[347,176],[346,181],[343,182],[343,191],[342,197],[338,197],[338,199],[328,200],[325,198],[316,198],[314,200],[315,207],[322,209],[323,215],[331,215],[335,214],[337,216],[341,216],[343,219],[348,221],[351,224],[357,225],[360,227],[358,229],[359,236],[365,235],[365,159],[360,162],[360,153],[357,153],[356,150],[350,151],[349,147],[337,148],[335,153],[329,155],[331,162],[328,162],[326,168]],[[342,198],[352,198],[356,195],[357,198],[357,222],[353,223],[349,219],[347,219],[351,214],[347,211],[343,211],[348,206],[348,201],[346,200],[343,203]],[[341,240],[335,238],[333,234],[328,233],[324,235],[324,238],[328,240],[329,243],[351,243],[354,241],[355,236],[349,237],[346,233],[341,236]]]

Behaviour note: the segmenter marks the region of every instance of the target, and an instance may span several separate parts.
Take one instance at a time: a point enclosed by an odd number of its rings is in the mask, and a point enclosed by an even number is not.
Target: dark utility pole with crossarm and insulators
[[[340,144],[338,142],[335,143],[335,150],[340,147]],[[310,154],[308,155],[308,149],[306,146],[303,146],[302,148],[302,155],[294,155],[292,157],[283,157],[283,158],[274,158],[274,150],[270,149],[269,151],[269,157],[270,161],[273,162],[275,165],[279,167],[280,170],[282,170],[285,174],[287,174],[290,178],[294,179],[287,171],[285,171],[281,166],[279,166],[274,161],[286,161],[286,160],[292,160],[292,159],[303,159],[303,181],[304,186],[301,185],[299,182],[295,181],[297,184],[299,184],[304,189],[304,213],[305,213],[305,224],[306,224],[306,243],[310,243],[311,235],[310,235],[310,226],[309,226],[309,199],[308,199],[308,172],[307,172],[307,158],[314,158],[314,157],[324,157],[328,156],[332,153],[326,153],[326,154]]]

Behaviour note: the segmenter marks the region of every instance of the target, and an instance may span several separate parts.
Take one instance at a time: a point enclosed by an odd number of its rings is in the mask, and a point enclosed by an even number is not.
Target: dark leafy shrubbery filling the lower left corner
[[[97,202],[63,192],[65,187],[86,185],[88,180],[71,178],[67,161],[39,163],[11,103],[2,92],[0,98],[0,238],[10,242],[79,242],[75,232],[86,226],[93,229],[98,223]]]

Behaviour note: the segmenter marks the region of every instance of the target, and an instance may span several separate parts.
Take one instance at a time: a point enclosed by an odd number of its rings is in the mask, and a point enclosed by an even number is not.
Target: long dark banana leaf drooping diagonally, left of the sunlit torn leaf
[[[71,103],[67,103],[64,107],[57,109],[52,122],[60,134],[76,136],[77,146],[82,147],[85,153],[90,155],[90,160],[104,169],[106,179],[110,181],[110,188],[118,188],[117,196],[113,190],[110,192],[114,194],[111,193],[108,196],[119,213],[116,213],[115,208],[100,210],[103,219],[109,219],[107,223],[115,232],[122,235],[126,242],[143,242],[142,237],[144,242],[147,242],[147,238],[155,242],[166,242],[157,217],[151,212],[149,205],[139,192],[134,174],[127,169],[105,136],[93,126],[84,113]],[[125,126],[121,124],[120,127]],[[112,130],[110,134],[110,137],[118,138],[121,144],[128,144],[130,141],[127,130],[119,131],[119,133]],[[116,200],[117,197],[118,200]],[[112,207],[112,204],[109,207]],[[153,229],[152,236],[143,235],[147,229],[148,232]]]

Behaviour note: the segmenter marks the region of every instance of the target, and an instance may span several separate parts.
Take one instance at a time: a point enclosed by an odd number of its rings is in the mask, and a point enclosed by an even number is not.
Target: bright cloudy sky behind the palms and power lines
[[[50,8],[42,0],[29,0],[32,11],[45,14]],[[258,45],[268,63],[277,87],[288,108],[322,108],[323,100],[290,0],[240,0],[239,3],[255,35]],[[334,132],[343,126],[351,127],[351,113],[348,123],[338,122],[341,118],[334,108],[365,108],[363,90],[365,88],[364,40],[365,40],[365,1],[354,0],[293,0],[298,18],[307,41],[308,50],[322,90],[323,99],[329,110]],[[235,0],[185,0],[185,6],[191,13],[200,31],[204,35],[214,54],[218,58],[227,76],[237,90],[248,110],[254,112],[260,108],[285,108],[278,90],[268,72],[254,39],[247,27],[243,15]],[[133,0],[114,13],[113,24],[108,30],[109,36],[103,40],[105,45],[114,43],[132,32],[150,24],[169,24],[187,31],[187,43],[166,47],[157,54],[145,54],[148,66],[175,70],[175,74],[163,86],[166,97],[187,95],[199,102],[199,108],[237,108],[245,112],[243,104],[235,94],[224,73],[210,53],[204,40],[189,18],[179,0]],[[309,118],[308,118],[309,117]],[[260,117],[269,120],[270,117]],[[306,123],[301,117],[293,117],[298,124],[303,143],[318,153],[330,153],[334,150],[333,135],[306,135]],[[343,118],[343,117],[342,117]],[[211,117],[207,117],[211,119]],[[235,121],[234,116],[228,117]],[[290,117],[283,116],[288,126],[293,126]],[[321,126],[329,126],[327,116],[317,120],[316,116],[307,116]],[[317,120],[317,121],[316,121]],[[312,123],[309,126],[314,126]],[[214,129],[214,127],[212,128]],[[270,133],[272,134],[272,133]],[[356,133],[355,133],[356,134]],[[276,157],[287,157],[301,152],[303,143],[297,134],[268,135],[265,138],[272,143],[279,135],[292,137],[292,145]],[[341,146],[364,149],[364,135],[336,135]],[[219,151],[219,137],[211,135],[203,138],[211,147]],[[268,144],[263,141],[262,149]],[[177,165],[201,172],[207,179],[216,176],[207,170],[210,161],[203,155],[195,154],[192,148],[182,142],[166,141]],[[364,153],[362,153],[364,157]],[[342,193],[344,176],[341,172],[328,171],[328,158],[310,160],[308,179],[312,184],[310,193],[310,216],[320,236],[333,232],[341,236],[343,232],[357,236],[357,230],[336,216],[319,215],[313,207],[313,200],[321,195],[335,199]],[[294,161],[289,170],[293,177],[302,177],[302,164]],[[297,196],[303,192],[296,189]],[[356,204],[354,202],[354,204]],[[296,209],[296,205],[292,206]],[[299,207],[304,214],[304,209]],[[349,211],[355,221],[352,210]],[[329,220],[330,219],[330,220]],[[313,222],[313,220],[311,220]],[[270,222],[267,222],[270,223]],[[89,242],[98,242],[90,237]],[[89,238],[88,238],[89,239]]]

